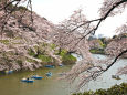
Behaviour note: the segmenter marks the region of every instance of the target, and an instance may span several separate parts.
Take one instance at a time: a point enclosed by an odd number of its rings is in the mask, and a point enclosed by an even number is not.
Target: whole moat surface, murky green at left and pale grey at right
[[[104,55],[94,54],[95,57],[105,59]],[[127,75],[121,75],[121,80],[114,80],[112,75],[116,74],[118,67],[127,65],[127,59],[120,59],[107,72],[99,76],[96,81],[89,82],[81,92],[88,89],[108,88],[115,84],[127,83]],[[72,66],[63,66],[55,68],[40,68],[33,72],[19,72],[10,75],[0,76],[0,95],[71,95],[70,85],[65,81],[59,81],[59,73],[67,72]],[[45,73],[51,71],[52,77],[46,77]],[[43,80],[36,80],[34,83],[22,83],[21,78],[38,74]]]

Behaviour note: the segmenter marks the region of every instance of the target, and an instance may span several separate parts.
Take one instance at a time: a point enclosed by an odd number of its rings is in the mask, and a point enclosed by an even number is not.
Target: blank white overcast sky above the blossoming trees
[[[98,9],[103,0],[32,0],[33,11],[49,21],[57,24],[70,18],[77,9],[83,9],[83,13],[88,20],[99,18]],[[126,22],[127,11],[114,18],[107,18],[96,31],[97,34],[113,36],[115,29]]]

